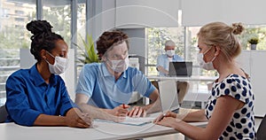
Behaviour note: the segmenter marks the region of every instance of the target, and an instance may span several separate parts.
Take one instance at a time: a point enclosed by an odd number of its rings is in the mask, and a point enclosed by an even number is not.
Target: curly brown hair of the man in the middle
[[[101,36],[99,36],[97,41],[97,51],[99,58],[102,58],[102,56],[106,53],[106,51],[113,46],[113,44],[122,43],[125,41],[127,43],[128,49],[129,49],[129,36],[121,31],[106,31]]]

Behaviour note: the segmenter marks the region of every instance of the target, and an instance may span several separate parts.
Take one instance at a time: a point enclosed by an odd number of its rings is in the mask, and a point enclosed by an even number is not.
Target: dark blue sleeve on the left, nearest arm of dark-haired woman
[[[6,81],[6,109],[13,121],[24,126],[33,126],[41,114],[30,108],[28,104],[26,82],[16,75],[11,75]]]

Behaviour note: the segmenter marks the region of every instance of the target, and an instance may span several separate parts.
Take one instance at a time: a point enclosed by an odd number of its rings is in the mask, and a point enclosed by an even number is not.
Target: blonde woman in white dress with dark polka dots
[[[228,26],[212,22],[198,33],[198,60],[206,70],[215,69],[219,78],[213,83],[206,109],[188,113],[160,115],[155,122],[176,128],[192,139],[255,139],[254,93],[248,75],[237,65],[241,51],[237,35],[244,30],[240,23]],[[186,122],[208,121],[206,128]]]

